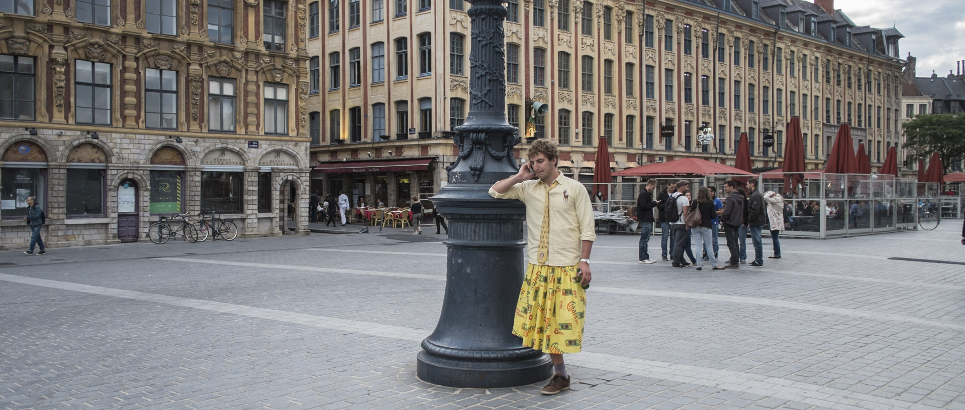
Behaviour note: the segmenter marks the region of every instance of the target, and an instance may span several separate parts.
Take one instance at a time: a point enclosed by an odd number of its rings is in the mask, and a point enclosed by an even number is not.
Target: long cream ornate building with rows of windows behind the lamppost
[[[444,183],[442,166],[455,161],[446,133],[470,98],[469,6],[310,3],[317,185],[395,198]],[[833,0],[510,0],[507,7],[510,123],[525,129],[529,104],[549,104],[547,115],[529,121],[532,136],[563,145],[561,166],[580,179],[590,178],[600,137],[615,169],[688,156],[732,165],[741,133],[756,167],[780,166],[775,152],[783,154],[794,115],[809,167],[823,166],[841,122],[852,124],[855,146],[870,147],[873,163],[884,160],[873,155],[879,145],[887,151],[899,140],[902,36],[857,26]],[[709,145],[697,140],[702,125],[714,134]],[[673,133],[662,136],[661,126]],[[772,148],[762,145],[765,133],[775,137]],[[379,168],[423,158],[438,164],[434,171]]]

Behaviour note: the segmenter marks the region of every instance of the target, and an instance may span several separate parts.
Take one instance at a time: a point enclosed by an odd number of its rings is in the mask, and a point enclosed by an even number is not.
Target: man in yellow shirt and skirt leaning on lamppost
[[[557,170],[556,142],[534,141],[527,154],[529,162],[494,184],[489,194],[526,205],[529,264],[512,334],[524,346],[549,353],[554,374],[541,393],[555,395],[570,385],[563,354],[583,346],[584,289],[593,278],[590,251],[596,240],[593,206],[583,185]]]

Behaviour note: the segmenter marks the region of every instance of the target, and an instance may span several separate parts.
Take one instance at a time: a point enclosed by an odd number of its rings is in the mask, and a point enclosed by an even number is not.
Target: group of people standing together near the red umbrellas
[[[702,270],[703,262],[706,261],[711,269],[738,269],[740,264],[746,264],[747,261],[748,233],[751,234],[751,243],[754,246],[754,260],[750,266],[762,267],[764,261],[761,234],[765,224],[769,226],[774,244],[774,253],[768,258],[780,259],[779,235],[785,229],[786,219],[784,197],[773,191],[761,193],[758,185],[758,179],[747,181],[744,187],[737,181],[727,181],[724,183],[726,196],[722,201],[717,198],[714,187],[700,187],[694,199],[690,192],[690,182],[679,180],[668,184],[665,192],[654,197],[657,181],[651,178],[637,197],[637,220],[641,228],[638,255],[640,263],[649,265],[656,262],[650,259],[648,244],[653,225],[657,222],[660,223],[662,231],[661,259],[671,261],[674,268],[695,265],[698,270]],[[653,209],[657,210],[656,216]],[[700,214],[700,218],[696,214]],[[722,225],[731,253],[727,265],[719,263],[718,236]],[[692,243],[696,243],[697,249],[702,252],[700,258],[694,256]],[[690,262],[684,259],[684,254]]]

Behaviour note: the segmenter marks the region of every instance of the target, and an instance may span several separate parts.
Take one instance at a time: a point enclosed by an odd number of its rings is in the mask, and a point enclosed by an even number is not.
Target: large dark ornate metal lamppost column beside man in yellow
[[[516,127],[506,119],[501,0],[467,0],[472,19],[469,114],[455,128],[459,155],[449,184],[432,197],[449,219],[446,295],[417,359],[420,379],[462,388],[522,386],[551,374],[549,357],[522,346],[512,320],[523,282],[526,209],[488,190],[519,170]]]

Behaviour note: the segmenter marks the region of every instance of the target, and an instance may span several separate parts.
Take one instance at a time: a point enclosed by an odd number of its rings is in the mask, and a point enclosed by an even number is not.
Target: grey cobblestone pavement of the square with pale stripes
[[[601,236],[553,397],[416,378],[446,278],[431,229],[0,252],[0,409],[960,410],[959,225],[722,271]]]

